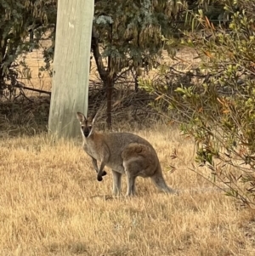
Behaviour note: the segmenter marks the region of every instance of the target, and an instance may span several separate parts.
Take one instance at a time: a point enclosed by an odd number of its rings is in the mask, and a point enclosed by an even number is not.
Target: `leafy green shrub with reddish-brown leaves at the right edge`
[[[229,196],[252,207],[255,0],[226,1],[224,9],[231,16],[227,29],[213,26],[200,11],[194,20],[201,31],[185,33],[185,41],[201,58],[198,76],[173,90],[173,84],[165,79],[172,69],[164,68],[161,79],[140,81],[140,85],[158,96],[156,105],[173,110],[175,115],[169,117],[178,119],[184,134],[195,139],[195,161],[207,165],[215,180],[229,187]]]

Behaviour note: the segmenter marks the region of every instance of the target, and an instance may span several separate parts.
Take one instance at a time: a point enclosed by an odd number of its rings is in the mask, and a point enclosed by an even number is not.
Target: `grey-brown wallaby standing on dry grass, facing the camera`
[[[92,157],[99,181],[105,176],[104,168],[107,166],[112,170],[115,196],[121,192],[122,174],[127,174],[127,196],[134,195],[135,179],[138,176],[150,177],[161,191],[174,192],[167,186],[156,151],[146,139],[129,133],[100,134],[94,128],[95,116],[86,118],[81,112],[77,112],[83,149]],[[101,162],[99,168],[98,161]]]

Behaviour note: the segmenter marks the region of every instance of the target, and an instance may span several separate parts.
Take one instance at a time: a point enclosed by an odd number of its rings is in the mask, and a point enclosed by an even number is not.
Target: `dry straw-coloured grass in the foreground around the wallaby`
[[[205,187],[188,170],[193,145],[177,130],[139,132],[158,151],[167,183]],[[171,159],[173,149],[180,158]],[[81,142],[47,135],[0,140],[0,255],[254,255],[253,215],[218,191],[169,196],[138,179],[138,196],[111,197]],[[126,180],[123,177],[123,192]]]

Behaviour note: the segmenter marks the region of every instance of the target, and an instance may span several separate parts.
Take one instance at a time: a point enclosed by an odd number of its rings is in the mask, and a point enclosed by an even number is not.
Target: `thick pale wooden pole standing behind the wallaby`
[[[79,131],[76,113],[87,116],[94,0],[61,0],[54,52],[53,91],[48,130],[65,139]]]

